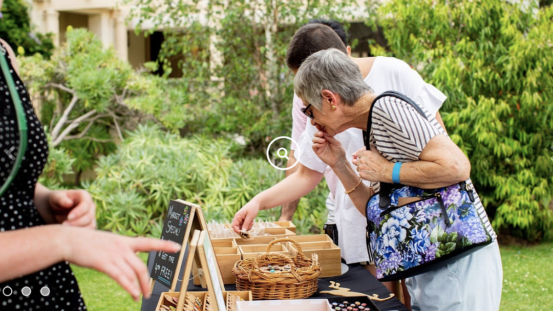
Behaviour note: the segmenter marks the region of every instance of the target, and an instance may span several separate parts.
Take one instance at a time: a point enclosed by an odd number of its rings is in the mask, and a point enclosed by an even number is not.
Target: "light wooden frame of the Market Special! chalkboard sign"
[[[173,201],[173,200],[171,200],[171,201]],[[185,204],[188,207],[190,207],[190,216],[189,216],[188,223],[186,224],[184,238],[182,239],[182,242],[181,242],[182,247],[181,247],[181,250],[180,250],[180,254],[179,254],[178,261],[177,261],[176,269],[174,271],[175,276],[173,278],[173,282],[171,282],[171,287],[169,288],[170,292],[175,291],[176,282],[178,281],[179,271],[180,271],[180,268],[181,268],[181,265],[182,265],[182,260],[184,259],[186,244],[190,245],[190,242],[192,240],[192,236],[191,236],[190,233],[193,232],[194,230],[200,230],[200,231],[206,230],[206,232],[207,232],[207,223],[206,223],[206,220],[204,218],[204,213],[202,212],[202,209],[201,209],[200,205],[196,205],[194,203],[190,203],[190,202],[187,202],[187,201],[184,201],[184,200],[181,200],[181,199],[176,199],[174,201]],[[195,254],[195,252],[194,252],[194,254]],[[156,252],[156,256],[157,255],[158,255],[158,252]],[[190,257],[190,254],[189,254],[189,257]],[[196,263],[196,266],[200,266],[200,261],[196,256],[192,257],[192,260],[190,261],[191,262],[190,264],[192,264],[192,261],[194,261]],[[155,260],[154,260],[154,266],[155,266]],[[219,271],[219,273],[221,273],[221,271]],[[185,282],[185,280],[186,280],[186,278],[184,278],[182,280],[182,284],[186,283],[186,286],[187,286],[188,282],[187,281]],[[155,284],[155,280],[152,277],[150,277],[150,293],[153,292],[154,284]]]

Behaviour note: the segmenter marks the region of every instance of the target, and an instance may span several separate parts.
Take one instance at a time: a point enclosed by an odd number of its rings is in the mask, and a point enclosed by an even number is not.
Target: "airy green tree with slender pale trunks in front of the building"
[[[195,133],[239,133],[254,149],[267,138],[290,133],[292,73],[285,65],[294,31],[309,18],[345,17],[351,0],[220,2],[128,0],[138,30],[165,29],[160,62],[165,73],[179,60],[184,100]],[[338,14],[338,12],[340,14]],[[165,109],[171,109],[166,104]],[[198,126],[201,124],[201,126]],[[164,123],[165,126],[170,126]]]

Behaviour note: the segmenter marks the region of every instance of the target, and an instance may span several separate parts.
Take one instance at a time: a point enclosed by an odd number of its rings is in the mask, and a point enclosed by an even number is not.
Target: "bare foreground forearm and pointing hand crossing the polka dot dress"
[[[135,252],[176,252],[180,247],[169,241],[64,225],[5,231],[0,233],[0,282],[69,261],[106,273],[138,300],[140,292],[149,297],[149,275]]]

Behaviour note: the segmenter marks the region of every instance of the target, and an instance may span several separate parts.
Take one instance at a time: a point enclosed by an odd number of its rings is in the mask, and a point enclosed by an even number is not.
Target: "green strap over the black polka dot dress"
[[[0,197],[2,197],[4,195],[4,192],[6,192],[9,185],[11,185],[12,181],[14,180],[15,175],[17,175],[19,167],[21,166],[21,162],[23,161],[23,155],[25,154],[25,151],[27,151],[27,118],[25,117],[25,109],[23,108],[23,104],[21,103],[21,98],[19,98],[19,93],[17,92],[17,89],[15,89],[15,83],[13,82],[12,74],[9,72],[10,68],[8,66],[8,61],[6,60],[7,51],[2,45],[0,45],[0,54],[2,54],[2,56],[0,56],[2,73],[4,77],[6,77],[6,83],[8,84],[9,93],[12,96],[12,102],[15,107],[15,114],[17,115],[17,126],[19,128],[19,147],[17,149],[17,156],[15,157],[12,169],[8,174],[8,178],[6,178],[6,181],[0,188]]]

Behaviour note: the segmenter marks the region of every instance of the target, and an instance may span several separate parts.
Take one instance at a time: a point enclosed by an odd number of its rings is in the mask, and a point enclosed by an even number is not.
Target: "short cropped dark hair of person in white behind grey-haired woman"
[[[311,54],[335,48],[347,53],[346,45],[332,28],[320,23],[306,24],[296,31],[286,52],[286,66],[298,70]]]

